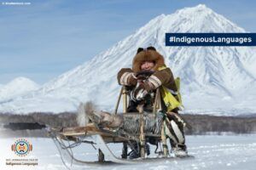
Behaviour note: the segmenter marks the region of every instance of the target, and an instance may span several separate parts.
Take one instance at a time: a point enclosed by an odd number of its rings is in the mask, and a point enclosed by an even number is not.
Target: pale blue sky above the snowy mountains
[[[0,84],[28,77],[42,85],[154,17],[200,3],[246,31],[256,31],[253,0],[0,0]]]

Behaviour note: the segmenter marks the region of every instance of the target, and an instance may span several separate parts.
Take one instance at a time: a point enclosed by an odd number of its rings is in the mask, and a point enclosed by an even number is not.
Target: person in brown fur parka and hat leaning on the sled
[[[121,69],[118,73],[118,82],[128,88],[131,99],[128,112],[138,112],[137,106],[142,104],[143,111],[152,112],[157,88],[160,88],[162,112],[177,113],[178,106],[181,105],[172,71],[166,67],[164,57],[154,47],[138,48],[132,61],[132,69]],[[182,125],[179,127],[183,133]],[[181,144],[184,145],[184,139],[182,140]],[[177,139],[171,139],[173,147],[177,145],[175,143],[178,143]],[[130,158],[138,157],[136,146],[137,144],[133,144],[136,150],[131,151]],[[186,150],[185,145],[183,147],[183,150]],[[149,151],[148,144],[146,150]]]

